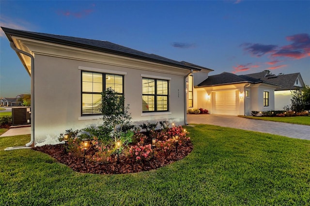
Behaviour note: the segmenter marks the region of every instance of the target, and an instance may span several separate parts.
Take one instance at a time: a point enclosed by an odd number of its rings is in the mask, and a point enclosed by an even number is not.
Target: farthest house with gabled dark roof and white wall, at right
[[[305,87],[300,73],[274,75],[269,71],[263,71],[246,75],[281,86],[275,90],[275,110],[289,110],[292,99],[291,90]]]

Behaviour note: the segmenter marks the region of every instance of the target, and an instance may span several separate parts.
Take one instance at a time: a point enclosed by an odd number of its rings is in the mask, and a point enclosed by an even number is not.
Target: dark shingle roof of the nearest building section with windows
[[[32,32],[32,31],[23,31],[23,30],[9,29],[9,28],[3,28],[3,27],[1,28],[7,35],[9,41],[12,41],[11,35],[14,35],[14,36],[27,37],[27,38],[41,40],[41,41],[50,42],[50,43],[75,46],[79,48],[86,48],[86,49],[91,49],[95,51],[101,51],[101,52],[106,52],[110,54],[131,57],[135,59],[143,59],[143,60],[158,62],[158,63],[162,63],[166,65],[181,67],[183,69],[193,69],[196,71],[200,71],[201,69],[210,70],[205,67],[201,67],[201,66],[197,67],[197,66],[193,66],[190,64],[186,64],[184,62],[161,57],[155,54],[144,53],[144,52],[141,52],[135,49],[131,49],[131,48],[128,48],[128,47],[125,47],[119,44],[107,42],[107,41],[99,41],[99,40],[84,39],[84,38],[78,38],[78,37]]]

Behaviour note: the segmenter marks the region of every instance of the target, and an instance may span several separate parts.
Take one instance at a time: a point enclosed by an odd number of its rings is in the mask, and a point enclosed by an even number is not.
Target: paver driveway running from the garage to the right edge
[[[310,140],[310,126],[224,115],[187,115],[188,124],[211,124]]]

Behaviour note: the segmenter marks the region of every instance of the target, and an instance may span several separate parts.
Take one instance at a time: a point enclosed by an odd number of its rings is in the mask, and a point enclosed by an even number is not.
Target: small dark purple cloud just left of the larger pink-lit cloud
[[[264,54],[274,52],[275,49],[278,47],[277,45],[269,44],[251,44],[245,43],[241,44],[244,47],[244,50],[256,57],[262,57]]]

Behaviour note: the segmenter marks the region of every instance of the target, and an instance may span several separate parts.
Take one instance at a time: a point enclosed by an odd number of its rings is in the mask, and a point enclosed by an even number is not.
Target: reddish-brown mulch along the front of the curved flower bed
[[[159,155],[161,153],[158,152],[157,155],[149,161],[137,162],[130,157],[120,155],[119,162],[117,162],[117,158],[115,157],[112,162],[107,163],[94,162],[87,158],[84,163],[83,156],[65,153],[63,144],[45,145],[42,147],[33,147],[32,149],[47,153],[58,162],[67,165],[76,172],[92,174],[127,174],[157,169],[181,160],[192,151],[193,145],[190,141],[186,145],[179,145],[178,153],[176,153],[175,149],[167,155]],[[94,152],[94,149],[91,148],[89,151],[86,151],[86,155],[90,155]]]

